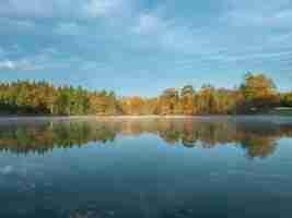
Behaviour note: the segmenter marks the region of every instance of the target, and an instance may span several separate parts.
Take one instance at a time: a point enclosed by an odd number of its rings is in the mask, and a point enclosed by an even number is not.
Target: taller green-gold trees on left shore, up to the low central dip
[[[0,111],[2,114],[109,116],[117,114],[118,99],[113,92],[19,81],[0,84]]]

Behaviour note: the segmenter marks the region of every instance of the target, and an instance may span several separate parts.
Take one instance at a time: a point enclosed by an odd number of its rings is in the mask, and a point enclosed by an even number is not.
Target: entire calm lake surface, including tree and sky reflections
[[[290,218],[292,118],[0,121],[1,218]]]

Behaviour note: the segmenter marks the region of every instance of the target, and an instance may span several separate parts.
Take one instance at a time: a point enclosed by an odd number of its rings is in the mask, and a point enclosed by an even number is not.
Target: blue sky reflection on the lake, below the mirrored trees
[[[280,140],[272,156],[253,160],[233,145],[186,148],[150,134],[119,137],[106,146],[90,143],[55,149],[43,156],[1,153],[0,202],[26,214],[46,205],[59,213],[83,209],[106,216],[114,211],[116,216],[148,213],[155,217],[161,208],[172,211],[210,205],[217,211],[219,201],[227,209],[227,195],[234,199],[231,207],[272,214],[275,207],[269,204],[284,205],[292,197],[291,143]],[[253,202],[270,197],[266,205]]]

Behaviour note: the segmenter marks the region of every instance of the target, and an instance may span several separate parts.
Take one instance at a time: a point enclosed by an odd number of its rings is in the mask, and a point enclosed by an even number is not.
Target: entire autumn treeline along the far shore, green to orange
[[[272,80],[248,73],[238,88],[187,85],[167,88],[159,97],[122,97],[113,92],[82,87],[55,87],[46,82],[19,81],[0,84],[2,114],[142,116],[142,114],[236,114],[292,107],[292,92],[279,93]]]

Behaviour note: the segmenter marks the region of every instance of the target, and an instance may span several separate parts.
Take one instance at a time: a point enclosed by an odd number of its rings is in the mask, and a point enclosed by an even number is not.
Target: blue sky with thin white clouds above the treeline
[[[154,96],[246,72],[292,89],[291,0],[0,0],[1,82]]]

